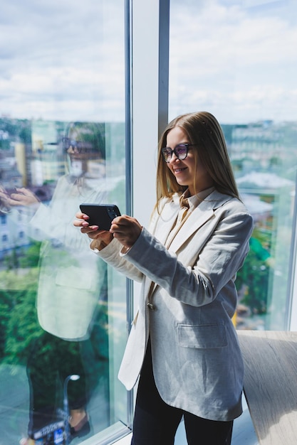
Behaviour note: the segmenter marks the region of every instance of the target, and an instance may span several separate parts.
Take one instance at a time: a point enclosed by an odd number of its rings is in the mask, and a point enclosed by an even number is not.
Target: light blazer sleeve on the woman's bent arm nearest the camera
[[[226,205],[215,218],[217,224],[207,240],[201,242],[197,230],[184,247],[191,257],[197,249],[194,264],[179,261],[179,253],[168,251],[145,229],[125,257],[173,298],[192,306],[209,304],[236,277],[249,252],[253,230],[251,215],[243,206],[234,210]]]

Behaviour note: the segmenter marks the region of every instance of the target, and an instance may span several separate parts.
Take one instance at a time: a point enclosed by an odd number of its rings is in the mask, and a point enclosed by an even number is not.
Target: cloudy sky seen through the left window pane
[[[121,0],[6,2],[0,114],[123,121],[123,17]]]

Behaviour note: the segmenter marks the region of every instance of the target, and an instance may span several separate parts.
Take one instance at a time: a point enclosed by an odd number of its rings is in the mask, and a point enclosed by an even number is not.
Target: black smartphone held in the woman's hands
[[[80,204],[80,210],[88,215],[89,225],[98,225],[100,230],[110,230],[111,222],[120,216],[120,210],[115,204]]]

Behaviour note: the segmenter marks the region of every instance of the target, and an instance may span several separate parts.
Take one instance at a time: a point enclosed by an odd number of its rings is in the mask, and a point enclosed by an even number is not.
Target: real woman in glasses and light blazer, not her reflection
[[[165,129],[149,230],[127,215],[109,232],[89,227],[87,215],[76,217],[91,249],[142,281],[119,372],[127,390],[140,375],[132,445],[174,444],[182,416],[188,444],[230,444],[244,374],[231,321],[234,280],[253,222],[217,119],[184,114]]]

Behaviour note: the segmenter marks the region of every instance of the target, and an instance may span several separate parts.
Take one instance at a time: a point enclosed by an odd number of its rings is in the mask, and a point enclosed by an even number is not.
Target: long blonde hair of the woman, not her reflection
[[[199,162],[212,177],[217,191],[239,198],[226,141],[219,122],[209,112],[195,112],[182,114],[173,119],[160,138],[157,156],[157,203],[161,198],[170,198],[174,193],[182,193],[187,188],[177,183],[162,156],[167,134],[174,127],[182,128],[189,138],[189,144],[195,144],[193,146],[195,162],[197,164],[199,156]]]

